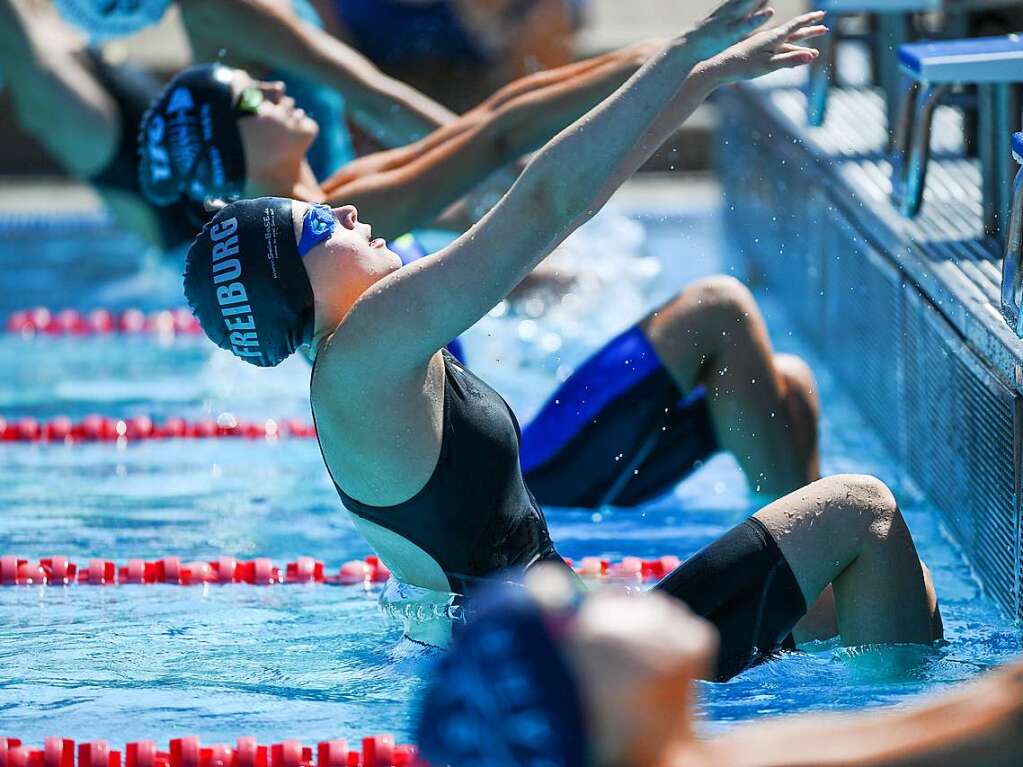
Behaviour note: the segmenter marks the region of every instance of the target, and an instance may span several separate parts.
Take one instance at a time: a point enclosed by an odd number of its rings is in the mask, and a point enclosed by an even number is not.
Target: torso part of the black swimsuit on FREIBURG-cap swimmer
[[[407,501],[369,506],[347,495],[357,516],[397,533],[433,557],[451,590],[539,561],[562,561],[519,465],[519,421],[497,392],[445,350],[444,434],[430,480]],[[337,487],[337,483],[335,484]]]

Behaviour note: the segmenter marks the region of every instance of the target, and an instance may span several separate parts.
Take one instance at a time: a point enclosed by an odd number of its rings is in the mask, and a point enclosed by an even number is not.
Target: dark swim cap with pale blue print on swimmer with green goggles
[[[139,184],[150,202],[241,196],[246,155],[231,89],[235,72],[222,64],[191,66],[171,80],[142,118]]]

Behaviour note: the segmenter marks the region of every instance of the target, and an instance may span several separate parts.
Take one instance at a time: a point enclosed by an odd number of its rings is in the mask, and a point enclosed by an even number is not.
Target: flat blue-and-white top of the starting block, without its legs
[[[899,46],[902,71],[928,83],[1023,82],[1023,35]]]

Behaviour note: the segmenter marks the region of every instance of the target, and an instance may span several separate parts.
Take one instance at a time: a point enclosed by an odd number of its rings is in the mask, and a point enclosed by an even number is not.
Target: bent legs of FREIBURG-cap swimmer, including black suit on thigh
[[[891,493],[870,477],[828,478],[775,501],[656,588],[716,626],[718,680],[793,647],[790,632],[808,641],[837,631],[846,645],[941,636],[929,574]]]

